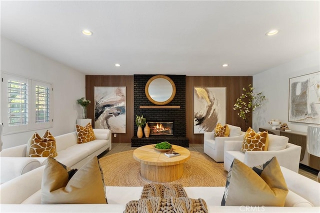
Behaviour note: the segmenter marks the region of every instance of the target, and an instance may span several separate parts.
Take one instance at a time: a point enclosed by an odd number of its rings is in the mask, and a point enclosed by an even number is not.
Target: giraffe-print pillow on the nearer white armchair
[[[244,134],[241,151],[266,151],[268,150],[268,142],[267,130],[255,133],[255,131],[249,127]]]

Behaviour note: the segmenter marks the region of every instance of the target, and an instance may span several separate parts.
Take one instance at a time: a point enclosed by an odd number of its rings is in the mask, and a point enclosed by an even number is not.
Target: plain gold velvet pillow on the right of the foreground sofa
[[[221,205],[284,206],[288,188],[276,157],[248,167],[234,159],[227,175]]]

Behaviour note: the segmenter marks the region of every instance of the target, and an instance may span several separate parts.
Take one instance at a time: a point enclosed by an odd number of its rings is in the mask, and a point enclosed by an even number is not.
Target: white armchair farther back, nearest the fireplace
[[[245,133],[238,126],[227,125],[230,130],[227,137],[214,137],[214,132],[204,132],[203,134],[203,151],[216,162],[223,162],[224,141],[242,140]]]

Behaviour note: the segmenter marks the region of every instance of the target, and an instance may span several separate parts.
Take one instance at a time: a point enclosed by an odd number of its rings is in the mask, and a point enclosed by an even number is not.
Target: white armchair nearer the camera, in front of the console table
[[[286,141],[285,148],[280,147],[278,141]],[[292,171],[298,172],[301,146],[288,143],[285,136],[269,134],[269,147],[267,151],[241,151],[242,140],[229,140],[224,143],[224,169],[228,171],[234,158],[252,167],[260,165],[276,156],[279,164]],[[271,145],[271,146],[270,146]],[[273,146],[272,146],[273,145]],[[282,142],[283,145],[283,142]],[[276,148],[274,148],[276,147]]]

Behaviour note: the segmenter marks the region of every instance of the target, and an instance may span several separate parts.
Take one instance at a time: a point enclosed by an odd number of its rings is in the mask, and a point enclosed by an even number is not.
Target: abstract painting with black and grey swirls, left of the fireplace
[[[125,133],[126,87],[94,86],[94,128]]]

